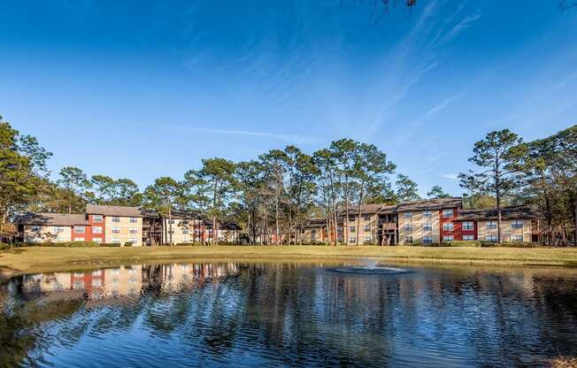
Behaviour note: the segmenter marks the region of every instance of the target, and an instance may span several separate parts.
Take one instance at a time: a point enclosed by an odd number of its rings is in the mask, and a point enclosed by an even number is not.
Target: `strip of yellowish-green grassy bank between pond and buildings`
[[[577,249],[432,248],[432,247],[28,247],[0,251],[0,273],[65,271],[130,263],[195,259],[239,261],[335,260],[370,257],[381,263],[441,265],[556,265],[577,267]]]

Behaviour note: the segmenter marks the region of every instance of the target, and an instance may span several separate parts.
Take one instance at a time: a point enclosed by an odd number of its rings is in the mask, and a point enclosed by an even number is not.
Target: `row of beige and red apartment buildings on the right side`
[[[504,242],[539,242],[541,215],[528,207],[502,210]],[[354,244],[404,245],[481,240],[496,242],[496,209],[463,210],[461,198],[427,199],[396,205],[365,204],[342,214],[339,241]],[[305,224],[304,242],[327,241],[321,219]],[[320,234],[320,236],[319,236]],[[313,240],[314,239],[314,240]],[[319,239],[319,240],[317,240]]]

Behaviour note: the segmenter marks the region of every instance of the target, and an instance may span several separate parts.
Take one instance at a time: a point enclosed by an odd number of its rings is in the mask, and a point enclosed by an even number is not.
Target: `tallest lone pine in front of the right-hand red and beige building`
[[[461,186],[472,193],[483,193],[496,197],[497,241],[503,242],[501,199],[509,194],[519,179],[519,163],[523,154],[518,145],[521,139],[509,129],[490,132],[482,141],[476,142],[473,157],[469,161],[481,168],[460,173]]]

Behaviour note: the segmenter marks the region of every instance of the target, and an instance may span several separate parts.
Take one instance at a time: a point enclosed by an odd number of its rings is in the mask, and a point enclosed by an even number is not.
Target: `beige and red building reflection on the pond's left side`
[[[91,300],[140,295],[142,290],[162,288],[178,290],[188,285],[236,275],[236,264],[132,265],[95,271],[50,272],[24,275],[11,281],[9,289],[34,297],[84,297]]]

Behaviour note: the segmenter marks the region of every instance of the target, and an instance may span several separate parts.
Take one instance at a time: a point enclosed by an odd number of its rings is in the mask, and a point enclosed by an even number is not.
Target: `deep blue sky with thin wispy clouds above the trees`
[[[373,142],[460,195],[473,142],[577,120],[577,10],[555,0],[4,1],[0,114],[81,167],[180,178],[203,157]],[[403,3],[402,1],[399,3]]]

